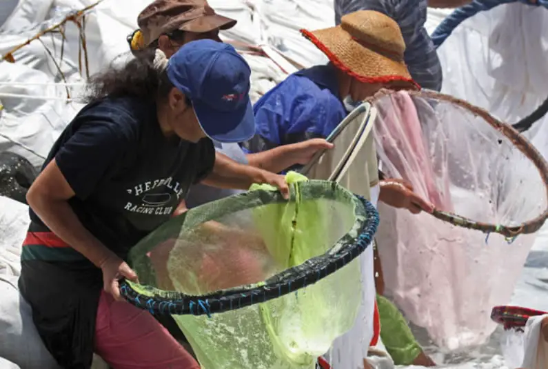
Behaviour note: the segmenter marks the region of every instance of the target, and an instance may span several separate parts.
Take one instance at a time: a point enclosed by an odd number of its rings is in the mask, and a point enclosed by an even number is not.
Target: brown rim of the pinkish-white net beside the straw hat
[[[374,103],[376,101],[383,97],[387,97],[394,92],[395,91],[393,90],[383,89],[377,92],[373,97],[370,97],[365,101],[371,103],[374,106]],[[516,148],[518,148],[518,150],[522,152],[522,154],[524,154],[534,163],[534,165],[540,172],[540,177],[542,178],[542,181],[545,183],[545,190],[548,197],[548,163],[544,159],[544,157],[542,157],[542,154],[540,154],[540,152],[538,152],[538,150],[533,146],[533,144],[525,139],[525,137],[523,137],[522,134],[520,134],[515,128],[492,117],[491,114],[489,114],[489,112],[487,112],[486,110],[478,108],[477,106],[474,106],[467,101],[457,99],[456,97],[452,97],[448,94],[442,94],[440,92],[434,92],[430,90],[407,91],[406,93],[409,94],[409,96],[411,97],[426,97],[429,99],[436,99],[438,101],[453,103],[457,106],[465,108],[466,110],[469,110],[469,112],[474,114],[474,116],[476,117],[482,117],[487,123],[489,123],[491,127],[498,130],[498,132],[500,132],[507,139],[509,139],[509,141],[511,141],[511,143],[513,143],[514,146],[516,146]],[[471,230],[480,230],[481,232],[485,233],[499,233],[500,235],[504,235],[505,237],[516,237],[518,235],[534,233],[539,230],[548,218],[548,208],[545,209],[542,214],[538,215],[538,217],[535,217],[534,219],[531,219],[529,221],[525,221],[519,226],[502,226],[490,223],[483,223],[480,221],[468,219],[466,217],[460,217],[460,215],[456,215],[452,212],[445,212],[438,209],[434,209],[431,214],[437,219],[440,219],[441,221],[445,221],[447,223],[451,223],[454,226],[469,228]]]

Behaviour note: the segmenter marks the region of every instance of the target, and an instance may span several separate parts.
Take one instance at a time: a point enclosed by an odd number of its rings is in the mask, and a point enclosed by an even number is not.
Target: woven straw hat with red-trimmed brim
[[[383,13],[359,10],[343,16],[339,26],[301,33],[358,81],[420,89],[403,61],[405,41],[398,23]]]

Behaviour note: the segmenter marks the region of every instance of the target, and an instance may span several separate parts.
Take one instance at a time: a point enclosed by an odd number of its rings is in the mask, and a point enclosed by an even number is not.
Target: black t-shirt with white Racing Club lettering
[[[190,143],[165,137],[153,103],[120,98],[85,106],[54,144],[44,168],[52,159],[76,193],[69,203],[83,226],[124,258],[172,216],[190,185],[210,173],[215,150],[210,139]],[[30,219],[30,232],[49,231],[32,210]],[[68,254],[75,252],[24,249],[23,259],[50,261],[74,259]]]

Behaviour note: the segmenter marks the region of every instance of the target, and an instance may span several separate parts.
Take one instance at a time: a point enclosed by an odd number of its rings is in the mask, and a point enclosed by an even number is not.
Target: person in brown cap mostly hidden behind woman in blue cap
[[[232,28],[236,20],[216,14],[205,0],[155,0],[139,14],[137,23],[139,30],[128,37],[132,53],[136,57],[152,59],[156,50],[162,50],[170,57],[185,43],[196,39],[221,42],[219,30]],[[324,139],[316,138],[279,146],[272,150],[245,154],[239,143],[213,143],[218,152],[234,161],[275,173],[296,165],[304,165],[318,150],[333,146]],[[197,184],[190,189],[186,204],[192,208],[236,193],[239,193],[239,190]],[[183,205],[176,214],[185,210]]]

